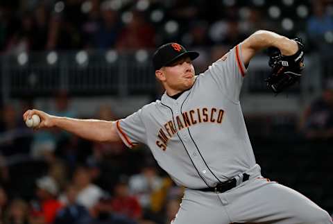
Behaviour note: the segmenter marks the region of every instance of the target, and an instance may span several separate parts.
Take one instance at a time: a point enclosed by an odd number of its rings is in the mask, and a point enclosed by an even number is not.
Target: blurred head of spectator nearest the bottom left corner
[[[14,199],[10,202],[3,224],[28,224],[28,204],[22,199]]]

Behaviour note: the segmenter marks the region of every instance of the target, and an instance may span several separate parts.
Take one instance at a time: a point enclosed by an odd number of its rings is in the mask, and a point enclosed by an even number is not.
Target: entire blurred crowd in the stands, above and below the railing
[[[3,0],[0,53],[130,51],[177,41],[189,48],[219,46],[217,58],[268,29],[304,38],[307,51],[318,51],[325,65],[333,52],[332,15],[328,0]],[[305,139],[333,139],[332,86],[302,114],[298,132]],[[46,112],[85,118],[69,109],[69,100],[59,92],[54,110]],[[32,107],[22,101],[1,108],[0,223],[170,223],[183,189],[146,148],[126,150],[59,130],[33,132],[22,121]],[[109,105],[96,109],[89,118],[119,118]]]

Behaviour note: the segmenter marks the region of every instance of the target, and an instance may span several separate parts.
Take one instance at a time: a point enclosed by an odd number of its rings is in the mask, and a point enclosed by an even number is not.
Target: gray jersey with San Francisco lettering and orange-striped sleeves
[[[158,164],[180,185],[214,187],[255,166],[239,92],[246,68],[235,46],[176,100],[161,101],[117,123],[130,148],[144,143]]]

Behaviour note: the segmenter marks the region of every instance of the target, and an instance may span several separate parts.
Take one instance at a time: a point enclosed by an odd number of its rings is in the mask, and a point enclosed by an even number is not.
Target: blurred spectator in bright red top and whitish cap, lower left
[[[62,204],[57,200],[58,186],[56,181],[49,176],[44,176],[36,181],[36,196],[38,205],[33,209],[33,214],[42,216],[46,224],[51,224],[56,218]]]

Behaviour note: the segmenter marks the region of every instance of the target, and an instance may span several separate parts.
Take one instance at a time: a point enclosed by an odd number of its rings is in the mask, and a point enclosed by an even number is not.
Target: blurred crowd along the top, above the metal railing
[[[298,35],[314,44],[309,50],[325,50],[333,42],[332,5],[329,0],[4,0],[0,51],[126,51],[170,41],[232,46],[258,29]]]

